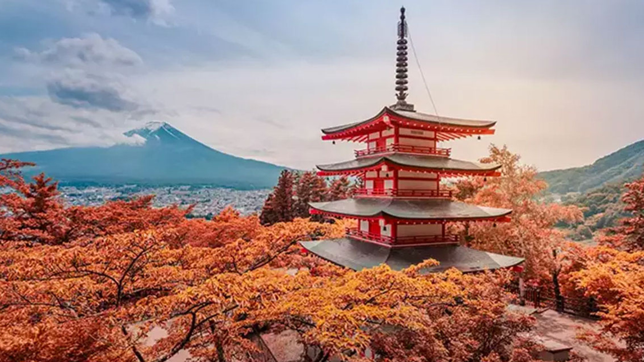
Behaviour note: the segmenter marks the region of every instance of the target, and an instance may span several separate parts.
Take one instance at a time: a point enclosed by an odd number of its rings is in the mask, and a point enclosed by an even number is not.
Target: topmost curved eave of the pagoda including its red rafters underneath
[[[392,124],[399,126],[408,126],[412,128],[425,128],[440,132],[441,140],[450,140],[455,138],[467,137],[468,135],[491,135],[494,129],[491,129],[497,122],[491,120],[469,120],[454,119],[450,117],[437,117],[426,113],[413,111],[395,111],[389,107],[384,107],[377,115],[360,122],[343,124],[330,128],[323,128],[323,140],[334,140],[349,138],[351,140],[360,140],[359,135],[379,131],[388,128],[383,120],[387,115]],[[355,139],[352,139],[355,138]]]

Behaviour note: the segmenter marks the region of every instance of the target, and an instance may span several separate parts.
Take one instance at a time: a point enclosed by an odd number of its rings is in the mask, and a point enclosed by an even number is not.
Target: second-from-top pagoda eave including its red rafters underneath
[[[450,162],[455,166],[449,166]],[[441,165],[445,164],[445,165]],[[460,164],[460,166],[458,166]],[[359,158],[337,164],[317,165],[320,176],[352,175],[373,171],[383,165],[405,171],[439,173],[442,176],[499,176],[497,164],[478,164],[434,156],[387,155],[373,158]]]

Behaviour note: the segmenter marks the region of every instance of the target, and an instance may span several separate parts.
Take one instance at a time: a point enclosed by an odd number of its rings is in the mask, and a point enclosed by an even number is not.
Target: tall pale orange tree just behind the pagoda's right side
[[[511,221],[481,222],[464,225],[468,244],[500,254],[526,258],[528,277],[553,279],[558,258],[553,251],[565,243],[564,231],[554,227],[560,222],[582,220],[573,205],[547,204],[539,199],[547,184],[536,176],[535,167],[520,164],[520,157],[506,146],[491,145],[482,163],[499,164],[499,177],[473,176],[456,183],[457,198],[464,202],[512,209]]]

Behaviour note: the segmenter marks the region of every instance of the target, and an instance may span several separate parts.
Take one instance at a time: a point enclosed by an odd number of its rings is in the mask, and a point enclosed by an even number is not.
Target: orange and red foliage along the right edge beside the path
[[[580,338],[618,361],[644,359],[644,177],[626,184],[622,200],[631,216],[605,231],[600,247],[578,258],[569,279],[600,305],[600,332]]]

